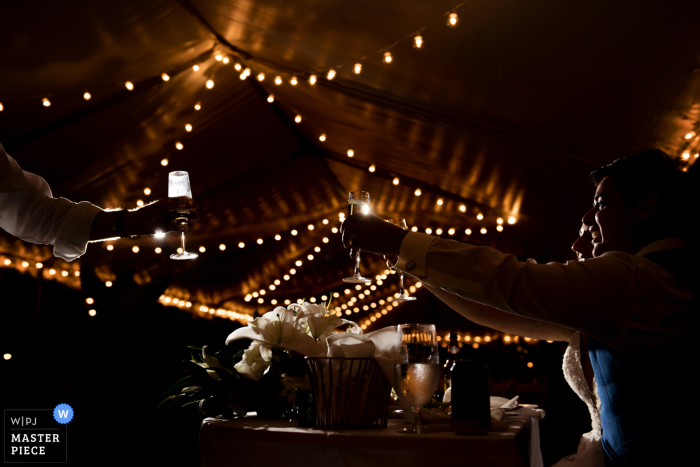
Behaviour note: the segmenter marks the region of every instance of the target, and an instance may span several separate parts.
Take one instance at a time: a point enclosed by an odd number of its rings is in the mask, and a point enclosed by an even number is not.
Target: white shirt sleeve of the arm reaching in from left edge
[[[0,228],[30,243],[54,245],[54,255],[73,261],[85,254],[95,216],[88,202],[54,198],[46,181],[20,169],[0,146]]]

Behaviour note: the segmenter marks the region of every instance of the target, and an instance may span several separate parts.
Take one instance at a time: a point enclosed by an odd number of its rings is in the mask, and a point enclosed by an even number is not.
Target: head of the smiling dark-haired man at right
[[[686,174],[663,151],[618,159],[591,174],[593,209],[583,217],[593,256],[635,254],[656,240],[682,236],[689,215]]]

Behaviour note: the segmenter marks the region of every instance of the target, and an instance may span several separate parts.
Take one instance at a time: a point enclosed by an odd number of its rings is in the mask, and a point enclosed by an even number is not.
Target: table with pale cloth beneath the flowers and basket
[[[257,417],[206,418],[199,431],[201,467],[541,467],[540,418],[521,407],[492,421],[492,431],[458,435],[448,423],[427,424],[428,433],[399,433],[409,426],[390,418],[386,427],[320,429],[296,421]]]

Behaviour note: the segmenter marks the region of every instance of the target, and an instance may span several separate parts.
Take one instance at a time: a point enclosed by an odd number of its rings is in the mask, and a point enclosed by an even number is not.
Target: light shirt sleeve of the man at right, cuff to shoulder
[[[567,263],[518,261],[496,249],[410,232],[396,268],[432,287],[567,327],[615,348],[666,342],[692,295],[666,271],[621,252]],[[687,313],[686,313],[687,314]],[[669,327],[664,323],[673,322]]]

